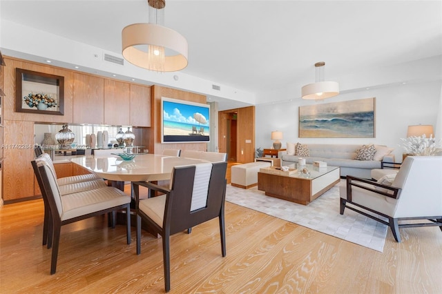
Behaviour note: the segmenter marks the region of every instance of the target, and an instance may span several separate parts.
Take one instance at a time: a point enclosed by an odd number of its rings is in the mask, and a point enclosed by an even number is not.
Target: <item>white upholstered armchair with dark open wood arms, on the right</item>
[[[405,158],[391,186],[347,176],[340,186],[341,215],[345,208],[390,226],[397,242],[399,228],[439,226],[442,231],[442,157]],[[405,222],[410,219],[425,222]]]

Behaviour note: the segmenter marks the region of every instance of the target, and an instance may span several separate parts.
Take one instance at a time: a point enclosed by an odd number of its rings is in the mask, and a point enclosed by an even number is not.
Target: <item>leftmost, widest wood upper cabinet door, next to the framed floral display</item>
[[[104,79],[73,74],[74,124],[104,124]]]

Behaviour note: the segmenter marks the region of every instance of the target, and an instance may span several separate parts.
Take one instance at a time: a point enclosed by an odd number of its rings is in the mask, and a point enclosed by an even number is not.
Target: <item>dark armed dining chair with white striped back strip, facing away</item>
[[[162,236],[164,287],[171,289],[170,236],[218,217],[222,257],[226,256],[224,202],[226,197],[227,162],[175,166],[170,188],[149,182],[133,182],[160,190],[164,195],[140,199],[135,193],[137,212],[137,255],[141,253],[141,224]],[[188,231],[189,233],[189,231]]]

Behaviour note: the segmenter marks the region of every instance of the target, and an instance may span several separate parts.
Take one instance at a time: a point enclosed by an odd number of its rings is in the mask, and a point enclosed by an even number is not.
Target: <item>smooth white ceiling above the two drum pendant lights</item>
[[[442,52],[442,1],[167,0],[165,26],[189,43],[182,72],[248,92]],[[1,18],[121,55],[121,32],[148,22],[146,0],[4,1]]]

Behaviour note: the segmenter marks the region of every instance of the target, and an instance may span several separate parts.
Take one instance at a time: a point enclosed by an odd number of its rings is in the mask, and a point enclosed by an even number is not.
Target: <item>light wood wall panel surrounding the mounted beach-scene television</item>
[[[182,90],[176,90],[172,88],[165,88],[162,86],[152,86],[152,111],[153,114],[153,128],[151,129],[151,142],[149,142],[149,153],[161,154],[164,149],[189,149],[206,151],[206,143],[181,143],[181,144],[161,144],[161,97],[168,97],[173,99],[180,99],[184,101],[193,101],[205,104],[206,96],[195,94],[191,92],[185,92]]]

